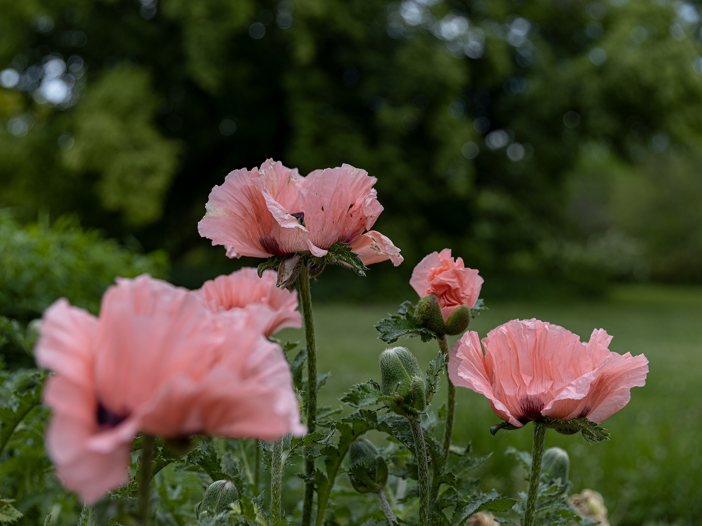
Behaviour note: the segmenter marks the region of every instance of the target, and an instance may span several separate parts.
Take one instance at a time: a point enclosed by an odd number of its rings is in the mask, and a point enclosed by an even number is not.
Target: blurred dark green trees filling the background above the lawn
[[[652,259],[656,239],[685,254],[677,279],[702,277],[687,238],[672,235],[680,222],[640,228],[668,199],[660,181],[628,215],[613,210],[614,193],[572,193],[604,174],[616,195],[633,195],[636,179],[618,174],[673,164],[678,180],[694,177],[702,63],[691,2],[0,0],[0,10],[0,200],[29,214],[79,211],[86,225],[203,265],[223,256],[195,223],[228,171],[266,157],[301,173],[349,162],[378,178],[378,228],[407,259],[380,294],[444,246],[514,277],[512,293],[640,277],[668,264]]]

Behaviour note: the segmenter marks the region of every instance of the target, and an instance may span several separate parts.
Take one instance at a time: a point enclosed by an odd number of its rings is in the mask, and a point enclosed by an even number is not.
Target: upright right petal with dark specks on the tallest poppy
[[[370,230],[383,211],[375,183],[376,178],[349,164],[310,173],[298,192],[310,243],[328,249],[337,241],[350,243]]]

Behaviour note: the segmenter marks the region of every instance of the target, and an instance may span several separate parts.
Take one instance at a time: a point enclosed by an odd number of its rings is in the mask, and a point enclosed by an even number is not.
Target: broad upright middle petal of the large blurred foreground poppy
[[[149,275],[118,278],[100,306],[98,398],[128,416],[176,372],[202,378],[219,359],[224,338],[222,322],[187,289]]]

